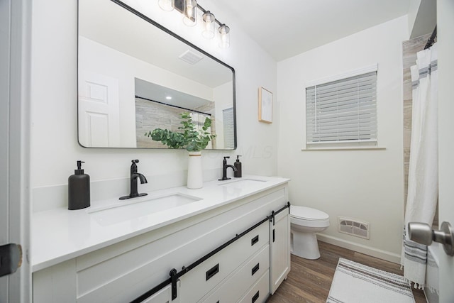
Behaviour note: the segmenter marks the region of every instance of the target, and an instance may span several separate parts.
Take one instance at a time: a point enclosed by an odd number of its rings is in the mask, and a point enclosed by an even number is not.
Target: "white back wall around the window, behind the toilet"
[[[279,62],[279,175],[292,179],[290,202],[326,211],[325,239],[398,260],[403,227],[402,41],[406,16]],[[384,150],[305,147],[305,84],[378,64],[378,145]],[[370,240],[337,231],[337,217],[370,222]],[[368,251],[371,253],[371,251]]]

